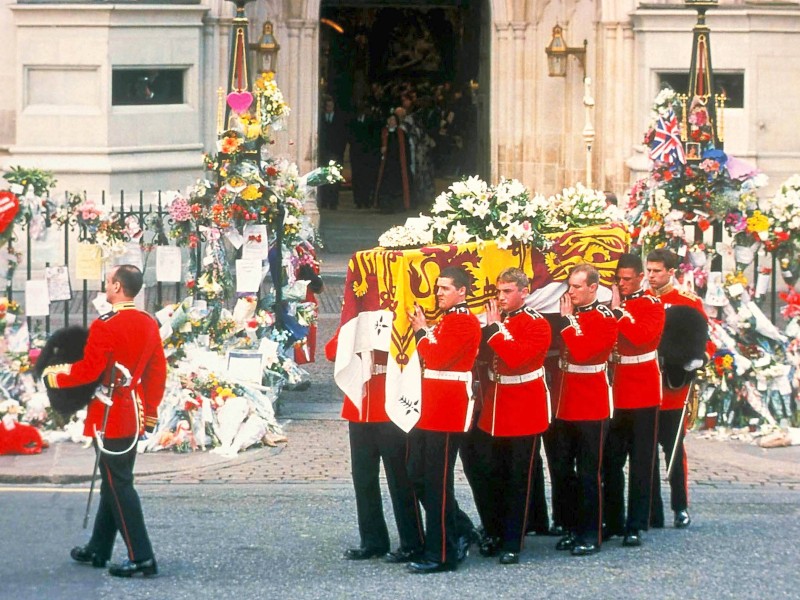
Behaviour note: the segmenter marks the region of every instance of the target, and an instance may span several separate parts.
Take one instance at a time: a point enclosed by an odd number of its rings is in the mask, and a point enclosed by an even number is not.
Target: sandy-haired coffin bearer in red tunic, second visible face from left
[[[483,339],[492,351],[478,434],[488,463],[486,537],[481,554],[497,551],[501,564],[519,562],[542,432],[550,424],[544,359],[550,325],[525,306],[528,277],[517,268],[497,278],[497,300],[489,302]],[[502,311],[502,312],[501,312]],[[502,492],[500,491],[502,490]]]

